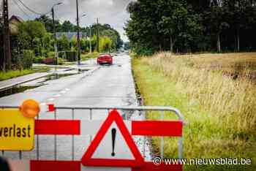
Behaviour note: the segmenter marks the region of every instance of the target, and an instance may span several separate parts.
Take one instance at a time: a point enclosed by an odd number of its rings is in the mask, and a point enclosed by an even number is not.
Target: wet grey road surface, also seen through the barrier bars
[[[83,63],[82,67],[97,67],[95,60]],[[127,55],[114,57],[112,66],[100,66],[93,73],[86,72],[58,80],[49,80],[45,86],[30,89],[20,94],[4,96],[0,105],[20,105],[24,99],[36,99],[41,104],[54,103],[57,106],[65,105],[95,105],[95,106],[129,106],[137,105],[135,85],[131,71],[131,59]],[[71,110],[59,110],[57,119],[71,119]],[[107,111],[96,111],[93,119],[104,119]],[[53,113],[42,112],[40,119],[54,118]],[[89,119],[89,111],[75,110],[76,119]],[[72,159],[72,136],[57,136],[58,160]],[[75,136],[75,159],[80,159],[89,145],[89,136]],[[37,159],[37,138],[35,148],[31,152],[23,152],[23,159]],[[0,153],[1,155],[1,153]],[[18,152],[4,152],[7,158],[18,159]],[[54,159],[54,136],[39,135],[39,159]]]

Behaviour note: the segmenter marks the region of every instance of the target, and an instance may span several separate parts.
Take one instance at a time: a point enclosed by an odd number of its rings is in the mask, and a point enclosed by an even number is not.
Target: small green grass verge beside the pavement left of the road
[[[0,80],[8,80],[10,78],[13,77],[20,77],[23,75],[29,75],[32,74],[36,71],[32,70],[32,69],[23,69],[23,70],[12,70],[12,71],[8,71],[8,72],[0,72]]]

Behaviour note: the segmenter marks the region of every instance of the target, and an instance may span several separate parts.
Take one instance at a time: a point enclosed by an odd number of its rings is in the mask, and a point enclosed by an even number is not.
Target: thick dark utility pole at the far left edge
[[[9,30],[9,11],[8,11],[8,0],[4,0],[4,65],[3,69],[11,69],[11,45],[10,45],[10,30]]]

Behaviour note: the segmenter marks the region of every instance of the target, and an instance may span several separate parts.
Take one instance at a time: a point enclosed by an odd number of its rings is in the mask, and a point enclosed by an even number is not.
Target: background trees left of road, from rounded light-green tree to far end
[[[80,31],[86,34],[86,37],[80,41],[80,47],[83,52],[96,50],[97,46],[97,27],[99,28],[99,50],[101,52],[116,51],[123,45],[118,32],[111,28],[108,24],[93,24],[90,28],[80,28]],[[49,52],[54,50],[54,39],[53,39],[53,22],[45,15],[35,20],[29,20],[20,23],[18,26],[18,40],[22,42],[22,49],[34,50],[35,54]],[[58,32],[75,32],[77,27],[69,21],[64,21],[63,24],[56,21],[56,31]],[[58,50],[77,50],[76,34],[71,38],[63,34],[57,40]]]

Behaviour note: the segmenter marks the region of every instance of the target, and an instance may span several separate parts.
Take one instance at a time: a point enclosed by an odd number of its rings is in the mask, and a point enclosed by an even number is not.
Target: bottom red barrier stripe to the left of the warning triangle
[[[30,161],[30,171],[80,171],[80,161]]]

